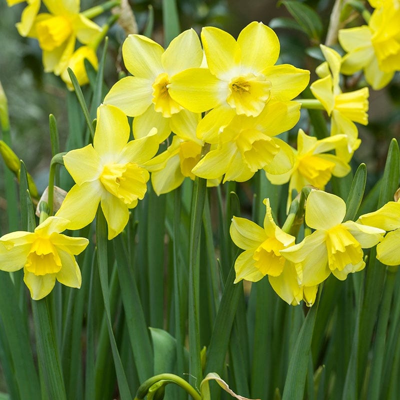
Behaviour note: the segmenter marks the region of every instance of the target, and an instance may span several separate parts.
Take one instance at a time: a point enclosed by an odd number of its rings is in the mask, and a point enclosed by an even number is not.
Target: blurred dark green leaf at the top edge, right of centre
[[[308,5],[294,0],[282,0],[291,16],[301,26],[302,30],[312,39],[318,40],[321,37],[323,26],[319,15]]]

